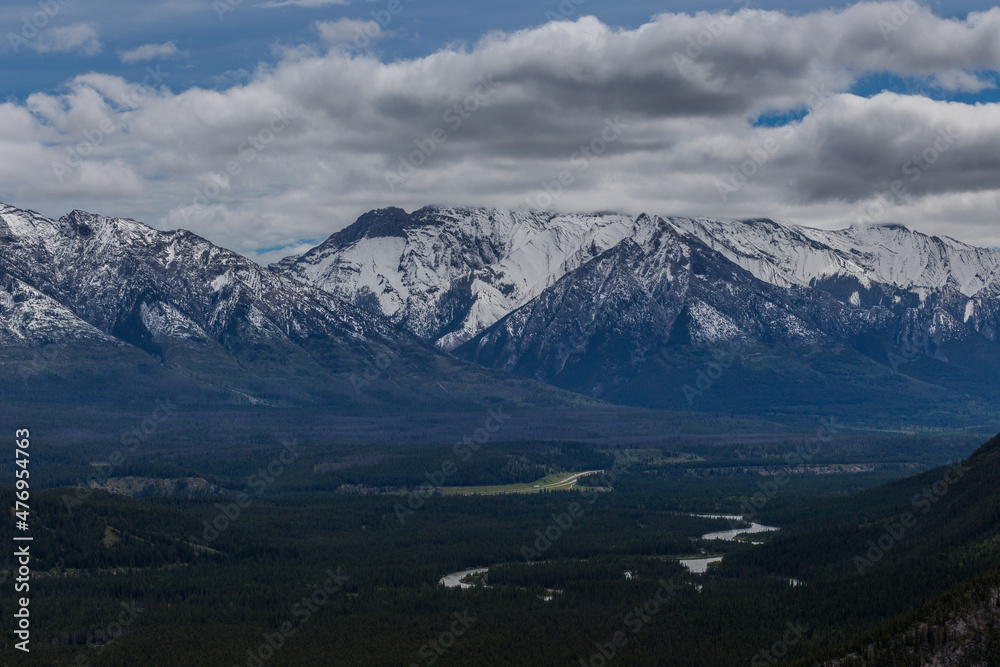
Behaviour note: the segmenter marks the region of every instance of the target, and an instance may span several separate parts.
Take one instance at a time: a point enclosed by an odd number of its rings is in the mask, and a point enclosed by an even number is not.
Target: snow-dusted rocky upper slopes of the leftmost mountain
[[[2,206],[0,270],[58,304],[50,317],[72,314],[147,351],[167,340],[361,346],[403,335],[191,232],[82,211],[49,220]]]

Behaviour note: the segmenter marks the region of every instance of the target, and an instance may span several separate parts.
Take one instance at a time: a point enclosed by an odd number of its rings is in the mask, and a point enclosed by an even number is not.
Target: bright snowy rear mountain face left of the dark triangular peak
[[[617,245],[628,216],[381,209],[277,265],[452,349]]]

